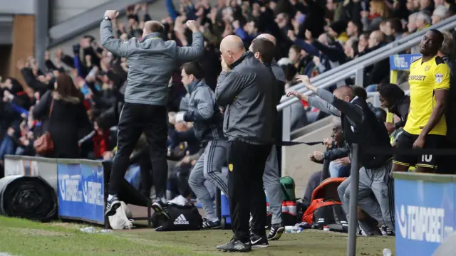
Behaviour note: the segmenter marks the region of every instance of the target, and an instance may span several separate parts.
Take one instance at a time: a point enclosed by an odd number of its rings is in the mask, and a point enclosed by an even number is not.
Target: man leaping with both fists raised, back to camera
[[[202,33],[195,21],[187,21],[193,32],[192,46],[178,47],[175,41],[163,41],[164,27],[158,21],[144,24],[142,40],[131,38],[120,41],[113,37],[111,21],[117,11],[106,11],[100,24],[101,45],[114,55],[127,58],[128,84],[125,104],[120,112],[117,151],[109,181],[109,196],[105,215],[115,214],[120,201],[120,181],[125,176],[130,155],[142,132],[150,149],[152,175],[157,200],[152,205],[155,211],[166,213],[165,193],[167,183],[167,95],[168,82],[173,70],[180,63],[201,58],[204,54]]]

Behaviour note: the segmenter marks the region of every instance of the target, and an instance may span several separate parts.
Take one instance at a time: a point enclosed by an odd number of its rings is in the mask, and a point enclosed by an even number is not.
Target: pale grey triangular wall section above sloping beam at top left
[[[110,0],[51,0],[51,26]],[[100,14],[100,16],[103,14]]]

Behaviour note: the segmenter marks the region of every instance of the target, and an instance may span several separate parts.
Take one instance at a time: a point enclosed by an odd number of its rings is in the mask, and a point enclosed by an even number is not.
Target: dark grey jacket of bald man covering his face
[[[274,143],[274,87],[276,79],[251,52],[246,52],[220,73],[215,99],[224,112],[224,133],[229,141],[250,144]]]

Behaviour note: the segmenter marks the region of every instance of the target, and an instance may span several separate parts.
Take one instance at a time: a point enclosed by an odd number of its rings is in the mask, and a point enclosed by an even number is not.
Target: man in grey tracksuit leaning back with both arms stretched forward
[[[334,90],[333,95],[327,90],[312,85],[306,75],[299,75],[298,80],[317,96],[301,95],[296,91],[289,91],[286,96],[293,95],[299,100],[306,100],[312,107],[341,117],[343,134],[348,146],[351,148],[353,143],[359,146],[358,161],[362,167],[359,171],[358,204],[378,223],[384,223],[388,228],[394,230],[393,179],[390,178],[393,165],[391,156],[372,154],[366,150],[368,147],[391,149],[385,125],[375,117],[366,100],[355,97],[351,87],[338,87]],[[348,212],[350,180],[351,178],[348,177],[338,187],[339,198],[347,216],[356,214]],[[372,192],[377,200],[371,197]],[[347,217],[347,219],[349,218]],[[364,231],[368,233],[368,230]]]

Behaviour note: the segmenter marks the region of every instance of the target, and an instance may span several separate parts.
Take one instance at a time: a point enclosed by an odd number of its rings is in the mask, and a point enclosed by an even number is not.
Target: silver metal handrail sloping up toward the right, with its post
[[[316,87],[326,89],[327,87],[331,87],[332,85],[335,85],[337,82],[346,80],[346,78],[350,78],[354,75],[355,84],[363,85],[363,75],[365,67],[373,65],[385,58],[389,58],[390,55],[400,53],[403,50],[418,45],[418,43],[420,43],[421,41],[423,34],[426,33],[426,31],[428,31],[429,29],[438,28],[440,30],[448,30],[451,28],[456,28],[456,16],[448,18],[444,21],[445,22],[442,21],[442,23],[430,26],[429,28],[423,31],[419,31],[413,35],[406,36],[398,42],[390,43],[390,45],[388,46],[385,46],[378,50],[374,50],[371,53],[361,56],[357,60],[352,60],[348,63],[339,66],[338,68],[334,68],[333,70],[329,70],[326,73],[318,75],[315,79],[312,78],[311,82]],[[400,45],[398,45],[399,42],[401,43]],[[304,93],[306,95],[312,94],[311,91],[307,90],[304,87],[304,85],[301,84],[295,85],[294,87],[291,87],[291,89]],[[283,111],[282,140],[284,142],[288,142],[291,139],[291,105],[296,102],[299,102],[299,100],[296,97],[282,97],[281,103],[277,106],[278,111]]]

